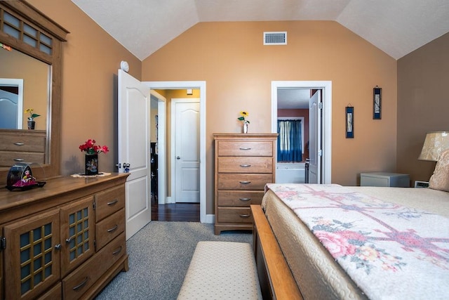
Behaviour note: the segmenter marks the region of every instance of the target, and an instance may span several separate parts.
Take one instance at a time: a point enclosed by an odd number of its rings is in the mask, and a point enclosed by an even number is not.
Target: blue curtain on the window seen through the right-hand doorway
[[[278,162],[302,162],[301,120],[278,120]]]

